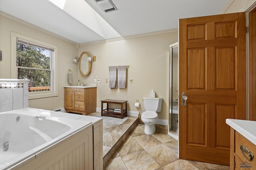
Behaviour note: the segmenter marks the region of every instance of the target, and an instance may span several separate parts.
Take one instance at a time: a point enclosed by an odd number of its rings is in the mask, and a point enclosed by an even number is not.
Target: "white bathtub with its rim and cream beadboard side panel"
[[[27,110],[0,112],[2,142],[9,142],[8,151],[0,147],[0,169],[48,169],[57,167],[61,162],[63,167],[73,162],[73,167],[79,170],[93,169],[91,122]],[[17,115],[20,115],[19,123]],[[38,115],[46,117],[45,120],[37,120]]]

